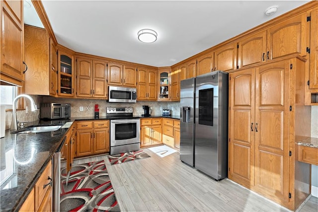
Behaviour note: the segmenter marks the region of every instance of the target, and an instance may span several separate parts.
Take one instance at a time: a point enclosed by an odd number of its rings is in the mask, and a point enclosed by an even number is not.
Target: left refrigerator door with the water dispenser
[[[180,83],[180,160],[194,166],[195,78]]]

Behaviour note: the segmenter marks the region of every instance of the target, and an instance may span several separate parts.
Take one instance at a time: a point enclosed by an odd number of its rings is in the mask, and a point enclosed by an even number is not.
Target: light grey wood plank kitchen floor
[[[233,183],[215,181],[182,163],[179,152],[159,157],[110,165],[107,155],[79,159],[74,165],[104,160],[121,211],[289,211]],[[316,197],[300,212],[317,212]]]

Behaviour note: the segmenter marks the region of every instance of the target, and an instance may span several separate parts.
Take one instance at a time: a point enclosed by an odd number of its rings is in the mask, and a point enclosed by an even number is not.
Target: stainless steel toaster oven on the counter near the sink
[[[41,103],[41,119],[63,119],[71,117],[71,104],[68,103]]]

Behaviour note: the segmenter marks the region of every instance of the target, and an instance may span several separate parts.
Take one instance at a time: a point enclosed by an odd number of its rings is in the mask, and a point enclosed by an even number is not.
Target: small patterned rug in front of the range
[[[116,155],[108,155],[108,159],[111,165],[144,158],[150,158],[150,155],[144,152],[144,150],[125,152]]]

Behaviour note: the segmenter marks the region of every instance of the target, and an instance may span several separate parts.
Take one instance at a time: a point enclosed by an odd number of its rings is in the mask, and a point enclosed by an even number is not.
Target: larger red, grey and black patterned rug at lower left
[[[60,211],[120,211],[104,161],[72,167],[68,185],[62,169]]]

